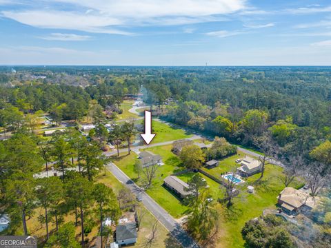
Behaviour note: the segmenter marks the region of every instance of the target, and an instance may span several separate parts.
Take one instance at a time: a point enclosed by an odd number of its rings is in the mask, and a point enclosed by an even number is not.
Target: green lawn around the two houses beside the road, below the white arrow
[[[146,189],[146,192],[154,198],[165,210],[167,210],[174,218],[179,218],[185,214],[187,207],[181,203],[181,200],[177,198],[174,194],[170,193],[168,189],[163,187],[163,179],[170,174],[180,171],[183,169],[181,167],[181,162],[174,156],[170,151],[171,145],[151,147],[148,148],[148,151],[154,152],[154,154],[159,154],[163,158],[163,163],[159,167],[156,178],[152,181],[152,187]],[[134,182],[138,185],[144,185],[143,175],[138,178],[138,174],[134,172],[134,159],[137,157],[137,154],[122,155],[120,158],[116,158],[114,163],[123,170]]]

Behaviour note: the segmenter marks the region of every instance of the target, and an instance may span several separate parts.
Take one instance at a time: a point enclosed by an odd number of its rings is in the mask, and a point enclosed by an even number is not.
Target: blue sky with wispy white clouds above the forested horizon
[[[0,0],[0,64],[331,65],[330,0]]]

